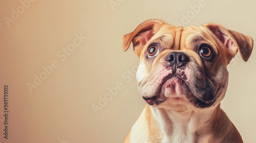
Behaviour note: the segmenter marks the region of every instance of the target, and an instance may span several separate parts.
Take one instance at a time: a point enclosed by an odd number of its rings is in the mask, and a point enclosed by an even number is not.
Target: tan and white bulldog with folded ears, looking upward
[[[220,102],[227,65],[237,52],[248,60],[250,36],[217,23],[182,27],[150,19],[123,36],[123,51],[131,43],[146,105],[124,142],[243,142]]]

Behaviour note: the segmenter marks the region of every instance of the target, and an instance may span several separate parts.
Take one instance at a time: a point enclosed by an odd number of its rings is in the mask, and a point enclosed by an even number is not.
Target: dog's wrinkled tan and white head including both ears
[[[228,63],[238,51],[247,61],[253,46],[251,37],[214,23],[183,28],[157,19],[124,35],[124,51],[131,42],[140,57],[136,78],[142,98],[174,110],[220,103],[227,89]]]

